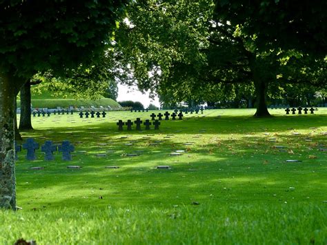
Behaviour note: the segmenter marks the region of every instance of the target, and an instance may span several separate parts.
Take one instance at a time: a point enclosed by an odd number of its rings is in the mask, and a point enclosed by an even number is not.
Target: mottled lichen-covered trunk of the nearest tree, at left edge
[[[23,80],[0,70],[0,208],[16,209],[14,99]]]

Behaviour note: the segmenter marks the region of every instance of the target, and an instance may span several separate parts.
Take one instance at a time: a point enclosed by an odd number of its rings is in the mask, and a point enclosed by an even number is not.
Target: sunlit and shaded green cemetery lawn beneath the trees
[[[69,139],[75,152],[72,161],[18,153],[23,209],[0,211],[0,243],[327,243],[326,108],[270,110],[266,119],[248,109],[207,110],[161,121],[159,130],[117,130],[119,119],[144,121],[152,112],[33,117],[24,141]]]

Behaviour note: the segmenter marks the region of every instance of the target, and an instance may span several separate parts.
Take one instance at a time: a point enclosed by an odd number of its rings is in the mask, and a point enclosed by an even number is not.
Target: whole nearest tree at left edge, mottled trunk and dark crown
[[[35,73],[95,61],[127,0],[0,1],[0,207],[16,208],[14,99]]]

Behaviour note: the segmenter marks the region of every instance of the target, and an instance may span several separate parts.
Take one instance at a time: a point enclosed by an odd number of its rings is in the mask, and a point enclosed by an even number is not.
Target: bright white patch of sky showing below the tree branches
[[[118,84],[118,97],[117,101],[140,101],[144,108],[147,108],[149,104],[154,104],[157,107],[160,107],[159,98],[156,96],[155,100],[149,98],[149,93],[142,94],[137,86],[126,86],[123,84]]]

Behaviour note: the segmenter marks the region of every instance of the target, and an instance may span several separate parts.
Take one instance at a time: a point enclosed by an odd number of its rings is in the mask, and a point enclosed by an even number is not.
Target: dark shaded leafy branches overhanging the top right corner
[[[216,0],[220,19],[255,36],[259,50],[281,48],[325,57],[327,1]]]

